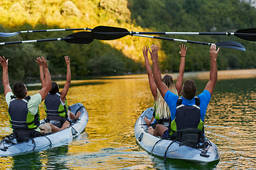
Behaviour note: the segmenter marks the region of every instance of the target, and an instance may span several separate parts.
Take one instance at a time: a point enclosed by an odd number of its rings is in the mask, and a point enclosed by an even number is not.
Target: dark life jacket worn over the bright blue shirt
[[[203,121],[200,115],[200,100],[195,97],[195,105],[185,106],[182,104],[182,98],[179,97],[176,106],[176,117],[174,120],[170,120],[169,123],[169,135],[172,135],[178,130],[187,128],[198,128],[203,130]]]

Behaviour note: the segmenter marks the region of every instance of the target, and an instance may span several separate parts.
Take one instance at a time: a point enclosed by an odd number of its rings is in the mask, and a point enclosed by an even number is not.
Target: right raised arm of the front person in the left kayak
[[[70,87],[71,83],[71,70],[70,70],[70,58],[68,56],[65,56],[65,63],[67,64],[67,76],[66,76],[66,82],[63,87],[63,90],[60,91],[60,99],[65,102],[65,96],[68,94],[68,89]]]

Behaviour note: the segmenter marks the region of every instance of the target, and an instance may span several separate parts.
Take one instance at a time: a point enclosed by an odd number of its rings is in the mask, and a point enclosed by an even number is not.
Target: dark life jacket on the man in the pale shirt
[[[36,115],[33,115],[28,111],[28,101],[30,98],[31,96],[27,96],[26,98],[19,100],[16,96],[11,96],[8,110],[10,128],[14,130],[33,130],[40,125],[39,109]]]

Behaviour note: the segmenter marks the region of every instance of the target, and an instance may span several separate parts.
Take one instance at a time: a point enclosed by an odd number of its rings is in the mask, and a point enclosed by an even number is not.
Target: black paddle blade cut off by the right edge
[[[234,35],[242,40],[256,41],[256,28],[237,30]]]

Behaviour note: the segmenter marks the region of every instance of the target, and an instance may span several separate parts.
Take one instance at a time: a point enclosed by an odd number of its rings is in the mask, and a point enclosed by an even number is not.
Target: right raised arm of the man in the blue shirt
[[[210,80],[206,84],[205,90],[210,92],[210,96],[213,96],[213,89],[217,83],[218,68],[217,68],[217,57],[220,48],[216,51],[216,45],[210,45]]]

